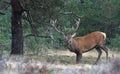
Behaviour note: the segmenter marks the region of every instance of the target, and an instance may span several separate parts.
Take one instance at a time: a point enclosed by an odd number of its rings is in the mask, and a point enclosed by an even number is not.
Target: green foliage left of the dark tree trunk
[[[6,12],[6,15],[0,15],[0,45],[3,46],[3,49],[10,50],[11,25],[9,11]]]

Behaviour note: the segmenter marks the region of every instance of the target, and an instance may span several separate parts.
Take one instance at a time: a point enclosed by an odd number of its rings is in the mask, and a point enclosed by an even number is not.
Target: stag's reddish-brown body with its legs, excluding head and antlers
[[[76,62],[79,63],[82,58],[82,53],[96,48],[98,52],[96,64],[100,59],[102,50],[106,52],[106,58],[108,59],[108,49],[104,46],[105,39],[106,34],[104,32],[95,31],[85,36],[72,39],[72,43],[68,43],[70,46],[69,50],[76,53]]]

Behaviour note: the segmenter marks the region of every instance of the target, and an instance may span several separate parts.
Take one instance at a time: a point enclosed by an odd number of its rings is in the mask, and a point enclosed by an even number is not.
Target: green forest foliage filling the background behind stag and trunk
[[[76,27],[75,20],[77,18],[81,19],[77,36],[83,36],[90,32],[100,30],[107,34],[108,44],[112,47],[119,47],[119,0],[84,0],[82,4],[79,0],[19,1],[26,10],[29,10],[35,30],[39,34],[35,41],[35,37],[31,35],[32,32],[28,19],[24,18],[25,50],[38,51],[42,48],[64,48],[64,37],[55,31],[49,21],[51,19],[57,19],[56,24],[60,26],[60,29],[66,33],[70,33],[72,27]],[[4,6],[4,4],[0,5],[0,11]],[[9,50],[11,48],[10,10],[9,8],[5,12],[5,15],[0,15],[0,44],[5,45],[5,48]],[[26,17],[26,13],[23,16]]]

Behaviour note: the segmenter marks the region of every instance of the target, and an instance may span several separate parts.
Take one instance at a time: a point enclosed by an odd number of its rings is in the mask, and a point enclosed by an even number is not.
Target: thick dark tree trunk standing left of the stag
[[[22,28],[22,13],[23,8],[19,0],[11,0],[12,16],[11,16],[11,30],[12,30],[12,45],[11,54],[23,54],[23,28]]]

